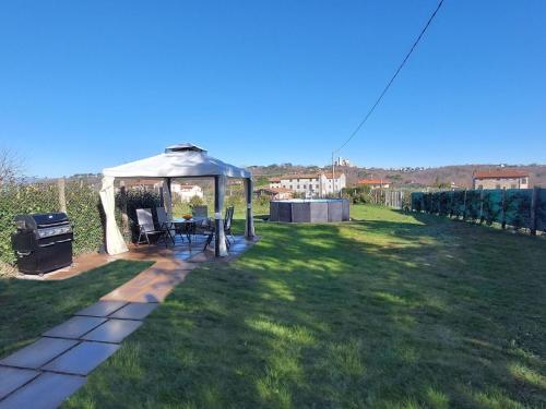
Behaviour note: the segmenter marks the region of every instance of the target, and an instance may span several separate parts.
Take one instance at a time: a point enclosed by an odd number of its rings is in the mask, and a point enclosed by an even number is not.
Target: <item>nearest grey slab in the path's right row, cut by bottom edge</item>
[[[43,373],[0,401],[0,409],[55,409],[85,383],[85,377]]]

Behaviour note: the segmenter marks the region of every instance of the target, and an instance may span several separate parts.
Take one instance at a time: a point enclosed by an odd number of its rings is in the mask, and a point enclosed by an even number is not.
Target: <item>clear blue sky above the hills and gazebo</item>
[[[4,1],[0,146],[49,177],[186,141],[238,165],[324,165],[436,4]],[[360,166],[544,164],[545,124],[546,2],[446,0],[341,154]]]

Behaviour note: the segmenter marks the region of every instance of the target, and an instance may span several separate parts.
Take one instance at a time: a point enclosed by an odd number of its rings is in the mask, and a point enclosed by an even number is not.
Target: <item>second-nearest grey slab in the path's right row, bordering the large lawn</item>
[[[43,366],[43,370],[87,375],[118,349],[116,344],[84,341]]]

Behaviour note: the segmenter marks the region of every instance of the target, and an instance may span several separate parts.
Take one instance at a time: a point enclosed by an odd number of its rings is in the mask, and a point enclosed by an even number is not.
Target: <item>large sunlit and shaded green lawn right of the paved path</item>
[[[545,407],[546,241],[352,212],[258,222],[253,249],[193,270],[66,407]]]

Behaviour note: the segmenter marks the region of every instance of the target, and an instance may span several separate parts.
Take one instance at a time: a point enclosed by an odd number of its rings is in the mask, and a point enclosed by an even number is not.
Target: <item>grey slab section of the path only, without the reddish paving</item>
[[[156,308],[98,301],[0,360],[0,409],[58,407]],[[120,315],[112,317],[117,312]]]

